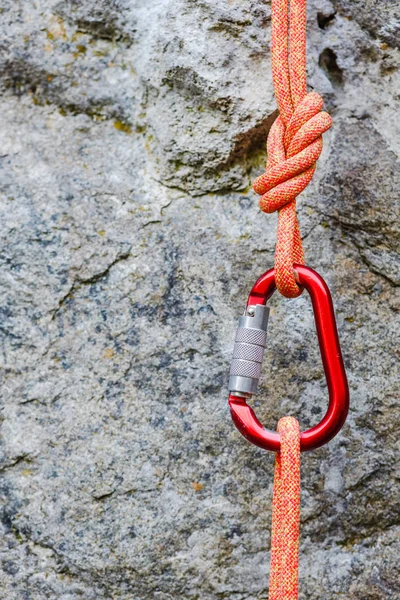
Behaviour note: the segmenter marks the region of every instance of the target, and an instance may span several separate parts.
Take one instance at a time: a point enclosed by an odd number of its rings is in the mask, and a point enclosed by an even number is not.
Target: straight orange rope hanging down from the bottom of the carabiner
[[[297,600],[300,535],[300,427],[294,417],[278,423],[272,509],[269,600]]]

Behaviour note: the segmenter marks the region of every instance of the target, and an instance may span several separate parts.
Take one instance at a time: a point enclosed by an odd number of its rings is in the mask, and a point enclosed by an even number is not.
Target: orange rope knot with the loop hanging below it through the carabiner
[[[304,264],[303,245],[296,214],[296,198],[310,183],[322,152],[322,134],[332,125],[322,111],[323,100],[316,92],[304,93],[296,106],[280,111],[267,140],[266,171],[253,188],[261,195],[264,212],[279,213],[275,252],[276,287],[283,296],[296,298],[295,264]]]

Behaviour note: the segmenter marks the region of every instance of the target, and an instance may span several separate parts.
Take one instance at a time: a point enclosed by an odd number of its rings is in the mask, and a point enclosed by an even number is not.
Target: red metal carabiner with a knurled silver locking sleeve
[[[301,433],[300,448],[304,451],[323,446],[340,431],[349,410],[349,388],[329,288],[322,277],[309,267],[295,265],[294,268],[299,284],[311,297],[329,391],[329,405],[324,418],[318,425]],[[260,448],[276,452],[280,448],[279,433],[265,429],[253,409],[246,404],[246,398],[257,387],[268,321],[266,303],[275,289],[275,270],[271,269],[256,281],[250,292],[246,313],[241,319],[242,324],[239,321],[236,336],[229,406],[232,419],[245,438]]]

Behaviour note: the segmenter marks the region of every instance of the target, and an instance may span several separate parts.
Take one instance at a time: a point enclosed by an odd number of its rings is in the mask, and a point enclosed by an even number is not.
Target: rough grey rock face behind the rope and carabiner
[[[276,109],[266,0],[3,0],[1,597],[268,597],[273,460],[234,429],[236,319],[273,264],[250,182]],[[301,599],[400,598],[399,8],[313,0],[334,119],[298,201],[351,388],[303,456]],[[270,428],[327,398],[274,296]]]

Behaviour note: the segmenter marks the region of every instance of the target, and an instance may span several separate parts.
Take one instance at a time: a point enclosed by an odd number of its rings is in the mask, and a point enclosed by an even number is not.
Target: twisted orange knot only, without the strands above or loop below
[[[321,96],[310,92],[296,106],[287,126],[281,116],[272,125],[267,168],[253,184],[264,212],[275,212],[295,201],[310,183],[322,152],[322,134],[332,125],[322,107]]]

